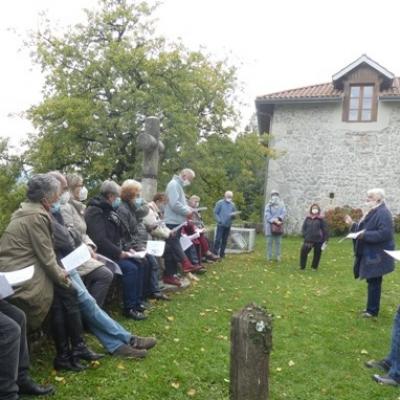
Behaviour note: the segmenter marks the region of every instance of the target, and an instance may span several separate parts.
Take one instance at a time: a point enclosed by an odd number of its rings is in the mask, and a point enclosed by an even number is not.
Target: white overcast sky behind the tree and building
[[[41,100],[42,78],[22,47],[47,10],[52,21],[81,22],[96,0],[14,0],[0,13],[0,136],[18,146],[33,128],[16,115]],[[366,53],[400,75],[398,0],[164,0],[158,32],[193,50],[228,57],[243,85],[243,125],[257,95],[330,81]],[[9,31],[12,28],[14,33]],[[10,116],[13,115],[13,116]]]

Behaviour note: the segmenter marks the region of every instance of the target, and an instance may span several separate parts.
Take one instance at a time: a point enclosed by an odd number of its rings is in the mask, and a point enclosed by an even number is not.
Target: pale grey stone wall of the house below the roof
[[[267,193],[279,190],[289,232],[300,232],[312,202],[360,207],[374,187],[400,212],[400,103],[381,102],[366,123],[342,122],[339,103],[277,105],[271,136],[279,156],[268,163]]]

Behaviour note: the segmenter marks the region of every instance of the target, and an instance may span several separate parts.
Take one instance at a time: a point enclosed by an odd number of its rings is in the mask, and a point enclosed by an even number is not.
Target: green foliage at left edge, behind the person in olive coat
[[[26,193],[21,181],[22,160],[8,153],[7,139],[0,139],[0,235]]]

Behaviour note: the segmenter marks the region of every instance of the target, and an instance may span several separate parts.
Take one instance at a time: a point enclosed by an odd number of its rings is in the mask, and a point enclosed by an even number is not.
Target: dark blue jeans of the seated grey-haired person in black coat
[[[135,310],[143,301],[144,268],[131,258],[118,260],[117,264],[122,271],[124,310]]]

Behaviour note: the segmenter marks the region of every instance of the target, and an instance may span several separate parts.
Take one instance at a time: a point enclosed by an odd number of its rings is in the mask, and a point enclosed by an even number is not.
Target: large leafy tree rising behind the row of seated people
[[[153,7],[135,0],[100,0],[87,22],[33,36],[45,74],[43,101],[28,116],[28,162],[36,171],[78,169],[92,181],[140,176],[136,136],[158,116],[166,145],[163,169],[185,150],[232,131],[235,69],[154,33]]]

